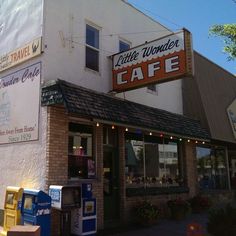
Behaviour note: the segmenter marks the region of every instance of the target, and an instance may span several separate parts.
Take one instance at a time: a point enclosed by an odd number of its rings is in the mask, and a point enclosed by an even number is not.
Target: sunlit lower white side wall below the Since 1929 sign
[[[39,140],[0,146],[0,209],[4,208],[7,186],[45,188],[46,108],[40,110]]]

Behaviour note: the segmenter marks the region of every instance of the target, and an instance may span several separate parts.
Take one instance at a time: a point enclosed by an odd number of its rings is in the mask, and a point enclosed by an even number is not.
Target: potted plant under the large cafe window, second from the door
[[[190,203],[187,200],[177,198],[167,202],[171,218],[175,220],[184,219],[191,211]]]

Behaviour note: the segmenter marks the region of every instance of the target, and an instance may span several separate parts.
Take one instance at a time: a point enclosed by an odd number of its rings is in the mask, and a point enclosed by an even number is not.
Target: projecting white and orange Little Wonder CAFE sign
[[[191,33],[182,30],[113,55],[113,90],[193,76]]]

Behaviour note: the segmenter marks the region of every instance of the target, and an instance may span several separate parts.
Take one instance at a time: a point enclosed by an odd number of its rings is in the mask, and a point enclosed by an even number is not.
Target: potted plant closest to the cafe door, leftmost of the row
[[[142,225],[153,225],[157,223],[159,210],[157,206],[145,200],[135,207],[135,217]]]

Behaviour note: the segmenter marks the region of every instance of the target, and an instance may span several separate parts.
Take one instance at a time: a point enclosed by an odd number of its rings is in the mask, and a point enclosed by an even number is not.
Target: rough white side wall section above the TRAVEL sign
[[[43,0],[0,0],[0,56],[42,36]]]

